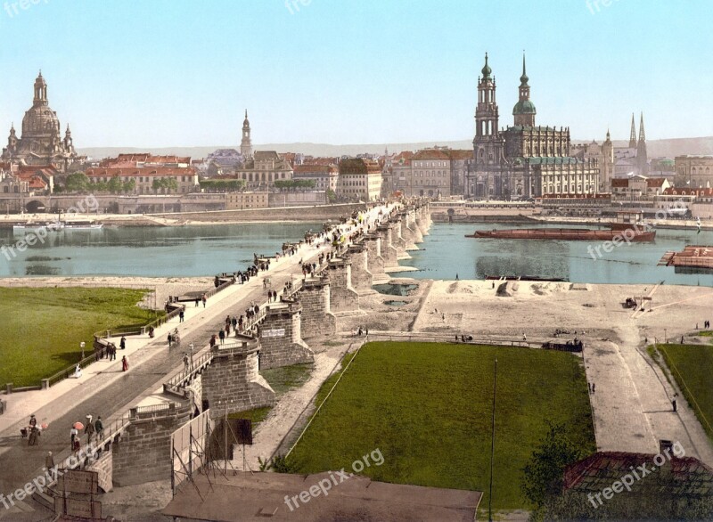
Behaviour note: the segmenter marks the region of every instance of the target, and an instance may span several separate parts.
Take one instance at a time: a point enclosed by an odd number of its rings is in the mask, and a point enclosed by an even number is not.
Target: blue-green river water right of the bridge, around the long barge
[[[548,225],[549,226],[549,225]],[[551,225],[561,227],[563,225]],[[417,272],[403,273],[421,279],[484,279],[486,276],[529,275],[572,282],[655,283],[713,286],[713,272],[676,273],[670,266],[658,266],[667,250],[682,250],[686,245],[713,245],[713,232],[658,229],[653,242],[632,242],[602,257],[588,247],[601,245],[589,241],[523,241],[472,239],[464,237],[475,230],[522,228],[512,224],[439,224],[430,235],[409,252],[413,259],[401,265],[414,266]],[[577,225],[579,228],[579,225]],[[596,228],[596,227],[588,227]],[[680,270],[680,269],[679,269]]]

